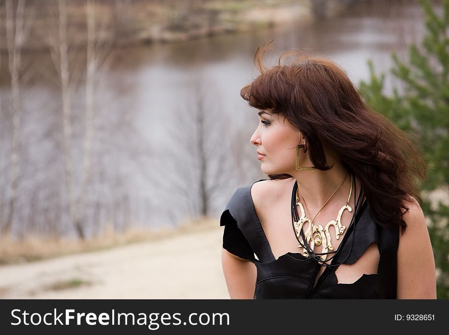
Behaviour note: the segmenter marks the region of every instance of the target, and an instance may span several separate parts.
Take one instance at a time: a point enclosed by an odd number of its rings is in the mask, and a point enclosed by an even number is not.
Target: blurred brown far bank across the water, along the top
[[[365,0],[96,0],[92,2],[96,33],[91,38],[115,46],[187,41],[322,19],[339,15],[362,1]],[[62,22],[58,8],[56,1],[26,5],[27,35],[22,50],[47,50],[51,41],[58,43]],[[0,6],[0,17],[7,17],[4,6]],[[67,2],[66,29],[69,45],[85,47],[88,36],[84,0]],[[0,25],[0,35],[6,36],[4,24]],[[0,51],[7,51],[6,38],[0,39]]]

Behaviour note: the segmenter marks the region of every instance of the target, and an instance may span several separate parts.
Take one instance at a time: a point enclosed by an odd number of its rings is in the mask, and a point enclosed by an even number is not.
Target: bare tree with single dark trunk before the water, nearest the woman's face
[[[208,99],[213,89],[208,85],[206,94],[206,85],[197,82],[193,86],[191,99],[177,109],[176,122],[170,123],[166,177],[159,180],[160,188],[176,198],[177,210],[183,209],[194,218],[211,215],[214,201],[229,184],[230,176],[223,113],[216,96],[214,101]]]

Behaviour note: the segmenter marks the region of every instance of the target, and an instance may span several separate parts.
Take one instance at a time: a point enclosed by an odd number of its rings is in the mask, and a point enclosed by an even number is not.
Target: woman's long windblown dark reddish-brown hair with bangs
[[[270,42],[271,43],[271,42]],[[342,164],[361,182],[375,222],[400,226],[413,196],[422,203],[419,184],[426,164],[407,133],[371,110],[346,73],[326,58],[285,50],[277,65],[263,63],[268,46],[256,51],[260,75],[241,89],[248,104],[281,114],[305,136],[309,157],[319,170],[329,170],[325,149],[337,153]],[[272,179],[291,177],[269,175]]]

